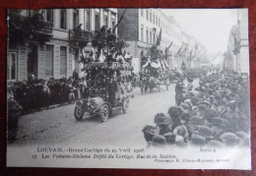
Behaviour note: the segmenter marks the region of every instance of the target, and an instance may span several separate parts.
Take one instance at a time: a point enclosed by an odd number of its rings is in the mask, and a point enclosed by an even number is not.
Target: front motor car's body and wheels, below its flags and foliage
[[[126,113],[131,88],[132,67],[129,62],[90,63],[87,71],[89,97],[77,101],[74,116],[77,121],[98,115],[102,122],[107,121],[111,114]]]

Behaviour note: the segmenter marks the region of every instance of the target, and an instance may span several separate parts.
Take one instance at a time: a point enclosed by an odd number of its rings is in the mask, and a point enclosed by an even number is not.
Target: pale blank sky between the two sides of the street
[[[188,34],[194,35],[208,50],[216,54],[226,50],[229,31],[237,23],[236,9],[164,9]]]

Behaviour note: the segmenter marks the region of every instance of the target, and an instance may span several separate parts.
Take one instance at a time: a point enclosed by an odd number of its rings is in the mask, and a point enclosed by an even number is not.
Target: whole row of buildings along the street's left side
[[[80,43],[102,26],[113,29],[124,10],[9,10],[7,80],[27,80],[30,74],[45,80],[70,77],[74,70],[83,77]],[[171,44],[166,51],[171,69],[199,67],[207,57],[205,48],[160,9],[126,9],[120,22],[115,33],[128,42],[135,72],[159,37],[163,52]]]

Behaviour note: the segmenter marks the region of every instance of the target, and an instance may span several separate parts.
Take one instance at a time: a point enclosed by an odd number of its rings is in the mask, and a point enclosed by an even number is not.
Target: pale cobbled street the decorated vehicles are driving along
[[[101,123],[98,117],[86,118],[77,122],[74,118],[74,104],[35,112],[20,117],[17,141],[12,145],[142,145],[146,142],[142,129],[154,123],[157,113],[166,113],[169,106],[175,104],[175,85],[169,90],[164,86],[159,92],[141,94],[134,89],[135,97],[130,101],[126,114],[122,112],[111,116]]]

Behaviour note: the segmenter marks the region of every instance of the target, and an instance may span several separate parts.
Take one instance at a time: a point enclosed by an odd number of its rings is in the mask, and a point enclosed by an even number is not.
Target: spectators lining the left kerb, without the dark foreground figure
[[[13,93],[14,99],[27,111],[86,96],[83,81],[84,79],[75,80],[73,77],[52,78],[49,81],[33,79],[12,83],[8,89]]]

